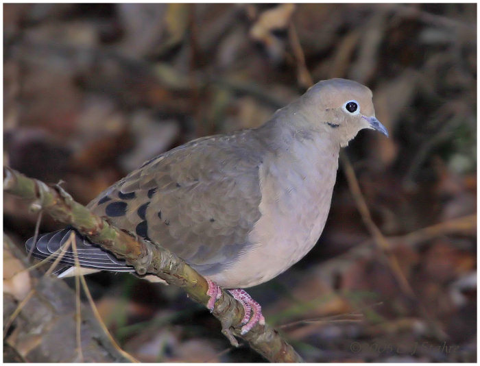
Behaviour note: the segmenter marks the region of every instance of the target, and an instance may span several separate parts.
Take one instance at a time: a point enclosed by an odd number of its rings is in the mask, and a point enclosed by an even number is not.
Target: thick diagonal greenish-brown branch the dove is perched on
[[[196,302],[206,305],[208,284],[199,273],[169,250],[116,228],[108,221],[93,215],[86,207],[73,200],[60,186],[27,178],[9,167],[3,168],[3,191],[32,202],[31,210],[43,210],[62,223],[73,225],[91,241],[123,258],[137,273],[152,273],[169,284],[181,287]],[[213,315],[221,321],[222,332],[232,345],[233,337],[248,341],[250,347],[272,362],[301,362],[302,358],[285,342],[274,328],[256,324],[250,332],[240,334],[243,306],[221,291]]]

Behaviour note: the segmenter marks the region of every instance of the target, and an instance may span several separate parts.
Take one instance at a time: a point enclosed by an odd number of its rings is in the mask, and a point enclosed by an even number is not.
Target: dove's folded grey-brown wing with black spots
[[[250,245],[261,216],[261,145],[252,130],[199,138],[149,160],[88,208],[216,273]]]

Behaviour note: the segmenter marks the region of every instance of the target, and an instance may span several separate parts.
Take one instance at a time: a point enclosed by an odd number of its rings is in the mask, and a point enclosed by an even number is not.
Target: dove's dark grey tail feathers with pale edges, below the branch
[[[38,237],[36,243],[34,243],[34,238],[30,238],[27,240],[27,243],[25,243],[25,247],[27,248],[27,252],[32,250],[33,256],[40,259],[46,259],[53,253],[56,253],[49,258],[50,262],[56,260],[56,258],[64,252],[62,259],[60,259],[60,265],[72,267],[75,265],[73,248],[71,245],[67,250],[63,247],[70,239],[71,232],[75,232],[77,258],[81,267],[116,272],[135,271],[133,267],[125,263],[125,260],[115,258],[110,252],[92,243],[74,228],[65,228],[57,232],[42,234]]]

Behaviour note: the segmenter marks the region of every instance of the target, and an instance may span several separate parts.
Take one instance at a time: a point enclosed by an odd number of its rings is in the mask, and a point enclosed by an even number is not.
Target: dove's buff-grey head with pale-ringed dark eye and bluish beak
[[[299,104],[307,123],[330,134],[341,147],[364,128],[388,136],[387,129],[375,118],[372,91],[352,80],[318,82],[299,99]]]

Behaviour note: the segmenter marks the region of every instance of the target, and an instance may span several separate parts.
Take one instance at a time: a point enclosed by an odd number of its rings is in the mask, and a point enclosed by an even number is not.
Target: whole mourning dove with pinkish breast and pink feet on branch
[[[261,127],[198,138],[152,158],[88,208],[183,258],[208,280],[209,308],[219,286],[231,289],[244,304],[245,333],[263,316],[242,289],[278,276],[315,245],[340,147],[364,128],[388,136],[370,89],[344,79],[318,82]],[[34,255],[55,252],[71,230],[40,236]],[[32,245],[29,239],[27,249]],[[77,246],[82,267],[134,271],[80,234]],[[73,258],[70,250],[61,263],[74,265]]]

